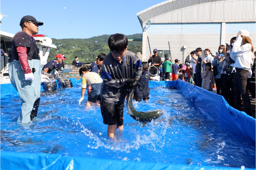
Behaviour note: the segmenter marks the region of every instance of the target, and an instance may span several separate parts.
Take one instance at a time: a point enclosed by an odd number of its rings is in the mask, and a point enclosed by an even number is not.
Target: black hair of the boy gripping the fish
[[[128,46],[128,39],[125,35],[116,33],[109,37],[109,49],[115,53],[122,53]]]

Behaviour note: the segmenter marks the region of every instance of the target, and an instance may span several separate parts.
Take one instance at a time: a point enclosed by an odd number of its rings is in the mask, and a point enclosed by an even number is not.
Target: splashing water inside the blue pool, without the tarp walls
[[[38,116],[20,124],[20,98],[1,100],[1,151],[58,153],[66,156],[255,168],[255,143],[242,133],[209,120],[177,89],[150,90],[148,102],[133,101],[138,111],[164,110],[142,123],[124,111],[124,130],[107,137],[100,107],[78,104],[81,85],[41,93]]]

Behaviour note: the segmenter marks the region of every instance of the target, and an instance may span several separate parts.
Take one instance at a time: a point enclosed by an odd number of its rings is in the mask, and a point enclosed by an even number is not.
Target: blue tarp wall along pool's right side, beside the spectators
[[[233,131],[241,132],[255,143],[256,120],[245,112],[229,106],[223,96],[180,79],[168,82],[149,82],[150,88],[165,86],[177,88],[198,110],[206,115],[208,119],[219,124],[220,127],[231,128]]]

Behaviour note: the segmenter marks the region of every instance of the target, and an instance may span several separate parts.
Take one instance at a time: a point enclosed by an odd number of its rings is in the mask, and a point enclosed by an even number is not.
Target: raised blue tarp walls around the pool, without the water
[[[73,85],[81,83],[76,78],[70,79]],[[179,89],[197,109],[221,127],[232,128],[255,142],[256,121],[245,112],[228,105],[226,100],[215,93],[204,90],[182,80],[150,81],[149,87],[172,87]],[[1,84],[1,99],[18,95],[12,84]],[[42,87],[41,87],[42,89]],[[180,165],[168,163],[150,163],[134,161],[117,161],[97,158],[80,158],[45,153],[1,152],[1,169],[241,169],[229,167],[212,167],[197,165]],[[248,169],[248,168],[246,168]]]

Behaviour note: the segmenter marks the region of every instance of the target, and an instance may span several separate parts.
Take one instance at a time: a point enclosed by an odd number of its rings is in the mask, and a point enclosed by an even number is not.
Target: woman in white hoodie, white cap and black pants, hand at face
[[[234,42],[232,51],[230,52],[230,58],[235,61],[234,67],[236,68],[234,79],[234,106],[238,110],[241,109],[241,94],[244,103],[244,112],[252,116],[251,101],[249,94],[247,93],[247,78],[249,76],[249,72],[251,74],[250,61],[253,52],[253,46],[249,35],[250,33],[246,30],[240,30],[237,33],[237,39]]]

